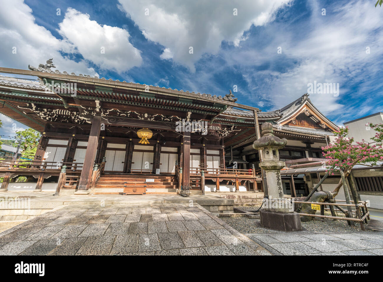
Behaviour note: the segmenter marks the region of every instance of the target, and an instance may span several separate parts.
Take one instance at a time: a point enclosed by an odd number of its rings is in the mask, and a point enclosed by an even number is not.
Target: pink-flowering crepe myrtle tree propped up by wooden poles
[[[327,159],[326,161],[326,174],[322,177],[321,181],[314,187],[307,197],[295,198],[297,201],[309,201],[309,202],[335,202],[334,198],[338,195],[340,188],[344,185],[346,187],[345,179],[349,177],[351,169],[356,164],[362,164],[365,166],[375,166],[378,161],[383,160],[383,125],[372,124],[368,125],[368,130],[372,128],[376,131],[373,138],[373,142],[367,143],[365,140],[362,142],[354,142],[354,138],[348,137],[349,129],[340,128],[338,131],[334,131],[335,141],[322,147],[323,156]],[[316,191],[320,184],[329,176],[340,173],[341,179],[339,180],[336,188],[329,191]],[[350,185],[352,185],[352,196],[354,201],[357,202],[357,197],[354,195],[355,188],[352,179],[350,179]],[[346,196],[347,197],[347,196]],[[347,198],[346,198],[347,199]],[[331,207],[331,206],[330,206]],[[339,207],[338,207],[339,208]],[[351,216],[351,208],[348,207],[348,211],[344,211],[346,216]],[[342,210],[341,208],[339,208]],[[314,214],[316,210],[311,209],[311,205],[302,204],[296,205],[295,210],[301,213]],[[335,215],[331,207],[332,215]],[[301,221],[311,220],[311,216],[301,216]]]

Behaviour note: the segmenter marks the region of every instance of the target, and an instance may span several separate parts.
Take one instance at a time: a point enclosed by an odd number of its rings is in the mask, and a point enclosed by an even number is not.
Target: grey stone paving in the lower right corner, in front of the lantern
[[[275,255],[383,255],[383,232],[245,234]]]

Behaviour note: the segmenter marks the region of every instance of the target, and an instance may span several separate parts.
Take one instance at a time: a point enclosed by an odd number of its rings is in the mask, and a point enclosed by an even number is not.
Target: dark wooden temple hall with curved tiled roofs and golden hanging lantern
[[[338,127],[307,94],[262,112],[229,93],[201,94],[52,71],[52,60],[28,70],[0,67],[0,112],[41,133],[33,160],[0,160],[0,191],[28,176],[35,191],[177,193],[183,187],[267,194],[252,143],[271,122],[288,139],[287,167],[321,161]],[[31,76],[28,79],[16,77]],[[306,195],[304,175],[283,175],[287,195]],[[18,183],[19,186],[21,185]]]

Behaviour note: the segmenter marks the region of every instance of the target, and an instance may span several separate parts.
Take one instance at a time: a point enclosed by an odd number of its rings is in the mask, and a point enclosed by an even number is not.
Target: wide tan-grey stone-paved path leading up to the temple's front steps
[[[0,255],[270,255],[194,203],[72,204],[0,233]]]

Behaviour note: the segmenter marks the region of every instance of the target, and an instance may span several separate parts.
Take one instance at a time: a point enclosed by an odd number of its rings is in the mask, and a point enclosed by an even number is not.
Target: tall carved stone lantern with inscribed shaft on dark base
[[[259,166],[266,172],[268,195],[260,210],[261,224],[265,228],[283,231],[302,230],[298,213],[294,212],[290,200],[283,197],[280,170],[285,162],[279,160],[279,149],[286,146],[287,140],[275,136],[271,123],[262,124],[262,137],[254,141],[253,148],[262,150],[262,162]]]

